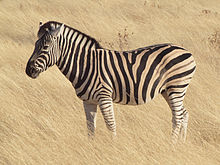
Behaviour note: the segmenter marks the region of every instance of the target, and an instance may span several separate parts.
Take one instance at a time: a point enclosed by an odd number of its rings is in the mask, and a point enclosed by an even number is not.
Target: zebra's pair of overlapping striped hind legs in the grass
[[[175,144],[180,138],[185,142],[188,124],[188,112],[183,106],[186,89],[169,88],[162,93],[172,110],[172,142]]]

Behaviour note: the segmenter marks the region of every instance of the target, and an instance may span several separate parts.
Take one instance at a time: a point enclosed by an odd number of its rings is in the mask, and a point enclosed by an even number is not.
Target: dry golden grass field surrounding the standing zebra
[[[39,21],[49,20],[109,49],[171,42],[190,50],[197,70],[185,97],[186,143],[172,147],[162,96],[115,105],[115,140],[99,112],[88,140],[82,101],[60,71],[52,67],[36,80],[25,74]],[[0,0],[0,164],[220,164],[219,0]]]

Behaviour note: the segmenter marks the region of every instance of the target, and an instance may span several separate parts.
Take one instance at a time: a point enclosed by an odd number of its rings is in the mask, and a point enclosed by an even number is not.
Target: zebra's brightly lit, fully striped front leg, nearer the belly
[[[107,128],[113,133],[113,136],[116,135],[116,123],[115,115],[113,110],[112,98],[101,98],[99,100],[99,107],[104,117]]]

